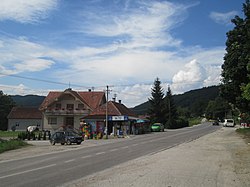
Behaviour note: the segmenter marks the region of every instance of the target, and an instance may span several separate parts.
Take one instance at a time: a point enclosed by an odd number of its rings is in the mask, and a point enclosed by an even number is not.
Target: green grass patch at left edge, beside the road
[[[14,150],[14,149],[19,149],[25,146],[28,146],[24,141],[21,140],[15,140],[15,139],[10,139],[10,140],[2,140],[0,139],[0,153],[3,153],[5,151],[9,150]]]

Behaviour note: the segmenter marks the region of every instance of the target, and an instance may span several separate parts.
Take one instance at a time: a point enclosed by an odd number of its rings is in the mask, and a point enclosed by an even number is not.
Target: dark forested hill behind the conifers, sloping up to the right
[[[190,112],[200,110],[204,112],[209,101],[219,96],[219,86],[204,87],[201,89],[191,90],[179,95],[173,95],[175,105],[181,108],[187,108]],[[149,108],[149,102],[142,103],[132,108],[138,115],[144,115]]]

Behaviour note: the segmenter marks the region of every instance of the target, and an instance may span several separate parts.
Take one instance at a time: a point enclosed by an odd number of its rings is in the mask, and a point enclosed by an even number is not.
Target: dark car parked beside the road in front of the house
[[[72,143],[76,143],[80,145],[83,141],[83,138],[73,131],[57,131],[52,134],[50,138],[50,143],[55,145],[56,143],[60,143],[64,145],[65,143],[70,145]]]

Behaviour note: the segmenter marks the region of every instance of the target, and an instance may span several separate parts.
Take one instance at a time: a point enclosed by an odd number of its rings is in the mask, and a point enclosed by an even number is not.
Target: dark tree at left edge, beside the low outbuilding
[[[0,90],[0,130],[7,130],[8,119],[7,116],[10,113],[12,107],[15,105],[10,96],[5,95]]]

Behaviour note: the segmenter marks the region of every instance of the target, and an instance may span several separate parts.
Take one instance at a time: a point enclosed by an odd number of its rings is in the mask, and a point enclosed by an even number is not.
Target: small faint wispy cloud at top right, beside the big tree
[[[226,13],[211,12],[209,14],[209,17],[212,20],[214,20],[216,23],[229,25],[231,24],[231,19],[234,18],[235,15],[237,15],[237,11],[231,11],[231,12],[226,12]]]

